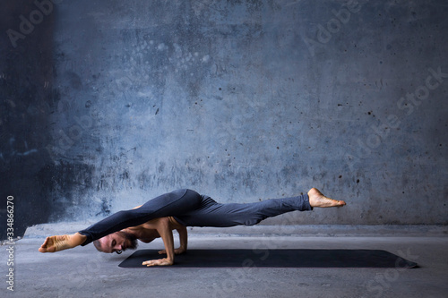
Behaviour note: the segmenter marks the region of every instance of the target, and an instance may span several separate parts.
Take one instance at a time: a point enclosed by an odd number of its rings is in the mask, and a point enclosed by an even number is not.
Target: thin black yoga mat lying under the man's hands
[[[163,258],[156,250],[135,251],[118,266],[147,268]],[[190,250],[177,255],[177,268],[415,268],[417,263],[379,250]]]

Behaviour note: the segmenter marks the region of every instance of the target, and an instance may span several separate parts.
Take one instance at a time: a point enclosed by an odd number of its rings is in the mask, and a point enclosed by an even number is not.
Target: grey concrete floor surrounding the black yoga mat
[[[448,236],[446,228],[391,231],[351,236],[338,227],[319,229],[320,236],[263,235],[194,229],[190,249],[379,249],[418,262],[419,268],[118,268],[133,251],[99,253],[93,245],[41,254],[48,226],[35,226],[14,245],[14,292],[2,282],[1,297],[448,297]],[[55,227],[55,226],[53,226]],[[59,225],[77,230],[76,225]],[[378,230],[375,228],[374,230]],[[205,233],[204,233],[205,231]],[[235,232],[238,230],[231,230]],[[336,232],[335,232],[336,231]],[[369,232],[370,231],[370,232]],[[429,231],[429,232],[428,232]],[[435,233],[433,233],[435,231]],[[337,233],[339,232],[339,233]],[[67,232],[68,233],[68,232]],[[55,233],[58,234],[58,233]],[[332,234],[332,236],[325,236]],[[0,255],[0,275],[7,280],[9,247]],[[141,243],[159,249],[162,243]]]

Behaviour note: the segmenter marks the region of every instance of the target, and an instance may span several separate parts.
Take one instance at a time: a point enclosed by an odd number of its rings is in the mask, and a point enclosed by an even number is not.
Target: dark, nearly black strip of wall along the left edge
[[[27,226],[47,222],[52,209],[39,173],[52,163],[46,146],[55,97],[50,88],[54,14],[38,10],[33,1],[22,0],[4,2],[0,12],[0,222],[6,222],[6,198],[13,196],[15,237]],[[0,239],[5,233],[0,230]]]

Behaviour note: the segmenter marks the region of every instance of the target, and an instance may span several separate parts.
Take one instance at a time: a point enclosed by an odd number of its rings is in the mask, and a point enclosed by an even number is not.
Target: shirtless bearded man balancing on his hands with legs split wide
[[[191,190],[165,193],[130,210],[116,212],[75,234],[47,237],[40,252],[56,252],[93,242],[97,250],[121,253],[135,249],[137,239],[143,243],[161,237],[167,254],[159,260],[146,260],[142,265],[173,265],[175,254],[186,251],[186,226],[253,226],[267,217],[290,211],[312,210],[314,207],[338,207],[343,200],[332,200],[312,188],[298,197],[263,200],[247,204],[220,204],[210,197]],[[172,230],[179,234],[180,247],[174,249]]]

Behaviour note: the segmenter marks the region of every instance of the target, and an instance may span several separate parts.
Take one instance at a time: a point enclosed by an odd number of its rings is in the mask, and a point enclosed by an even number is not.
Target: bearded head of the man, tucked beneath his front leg
[[[93,245],[95,245],[95,248],[98,251],[109,253],[114,251],[125,251],[127,249],[134,250],[137,248],[137,238],[134,234],[118,231],[99,238],[99,240],[95,240]]]

